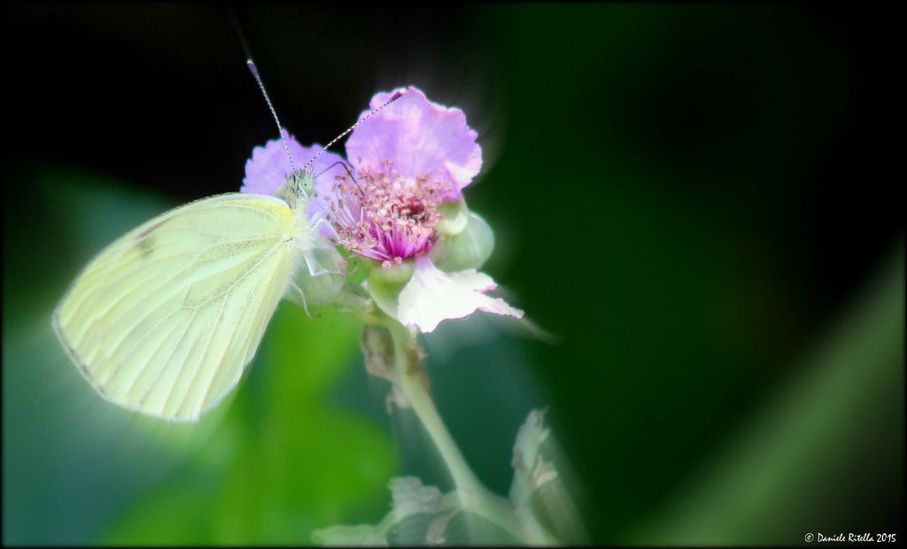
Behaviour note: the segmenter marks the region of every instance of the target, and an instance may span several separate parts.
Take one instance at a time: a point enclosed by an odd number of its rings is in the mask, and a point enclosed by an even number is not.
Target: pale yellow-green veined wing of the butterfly
[[[102,397],[195,421],[255,355],[294,269],[295,226],[284,201],[254,194],[164,213],[88,264],[54,328]]]

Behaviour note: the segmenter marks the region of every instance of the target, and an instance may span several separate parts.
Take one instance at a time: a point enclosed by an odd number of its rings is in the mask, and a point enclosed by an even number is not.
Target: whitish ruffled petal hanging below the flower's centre
[[[415,259],[413,278],[397,299],[397,319],[430,332],[442,320],[462,319],[476,310],[522,319],[523,311],[483,292],[497,288],[488,275],[474,269],[446,273],[427,256]]]

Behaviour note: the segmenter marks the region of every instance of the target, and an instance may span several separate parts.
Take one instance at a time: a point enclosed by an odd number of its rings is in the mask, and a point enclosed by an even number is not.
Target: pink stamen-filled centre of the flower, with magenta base
[[[336,177],[326,219],[346,250],[387,268],[432,249],[442,219],[438,206],[450,185],[428,173],[402,177],[390,160],[382,165],[380,172],[360,171],[355,181]]]

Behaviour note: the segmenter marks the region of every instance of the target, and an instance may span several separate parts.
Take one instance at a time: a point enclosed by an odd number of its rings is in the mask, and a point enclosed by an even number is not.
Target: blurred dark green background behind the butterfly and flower
[[[93,394],[50,330],[68,282],[141,221],[236,191],[276,130],[222,6],[3,11],[4,543],[306,544],[379,520],[393,475],[449,488],[414,417],[385,413],[356,321],[329,310],[281,305],[236,396],[198,426]],[[485,270],[560,338],[476,317],[424,341],[487,485],[506,492],[516,429],[548,406],[594,542],[903,535],[892,14],[236,14],[300,142],[407,84],[479,132],[466,197],[496,232]]]

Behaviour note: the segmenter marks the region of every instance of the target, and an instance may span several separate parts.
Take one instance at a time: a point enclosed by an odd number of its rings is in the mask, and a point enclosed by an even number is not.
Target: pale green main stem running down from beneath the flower
[[[438,448],[444,464],[453,476],[457,494],[463,509],[497,524],[504,531],[524,544],[557,544],[551,534],[540,524],[521,524],[509,503],[486,488],[473,473],[469,464],[453,442],[453,437],[444,426],[441,416],[428,391],[428,380],[419,365],[419,353],[415,340],[403,326],[390,328],[394,339],[396,376],[399,387],[412,405],[416,417],[422,422],[434,446]]]

